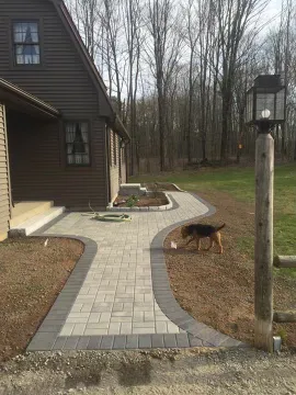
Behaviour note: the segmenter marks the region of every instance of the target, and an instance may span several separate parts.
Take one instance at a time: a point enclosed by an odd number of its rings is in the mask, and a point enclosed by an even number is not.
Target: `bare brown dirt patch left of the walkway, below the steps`
[[[78,240],[45,240],[0,242],[0,361],[25,349],[84,249]]]

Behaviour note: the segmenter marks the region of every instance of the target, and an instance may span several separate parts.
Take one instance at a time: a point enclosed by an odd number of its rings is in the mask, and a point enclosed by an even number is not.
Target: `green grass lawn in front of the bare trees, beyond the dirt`
[[[173,182],[186,191],[227,192],[238,201],[254,202],[254,168],[219,168],[133,177],[130,182]],[[274,255],[296,255],[296,163],[275,168]],[[253,238],[243,237],[241,250],[253,255]],[[296,270],[275,270],[276,274],[296,276]]]

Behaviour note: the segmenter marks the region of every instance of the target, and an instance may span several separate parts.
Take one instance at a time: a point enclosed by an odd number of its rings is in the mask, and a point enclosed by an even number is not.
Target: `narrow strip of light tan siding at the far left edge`
[[[7,238],[10,219],[5,108],[0,103],[0,241]]]

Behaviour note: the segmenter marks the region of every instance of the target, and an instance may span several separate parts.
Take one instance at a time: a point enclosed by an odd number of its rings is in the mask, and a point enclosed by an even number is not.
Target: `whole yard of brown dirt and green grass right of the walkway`
[[[247,343],[254,339],[254,169],[219,168],[133,178],[133,182],[173,182],[200,194],[217,212],[202,223],[218,225],[224,253],[207,242],[185,247],[180,227],[164,241],[171,290],[180,306],[198,321]],[[132,180],[130,180],[132,182]],[[296,255],[296,163],[275,169],[274,253]],[[178,249],[170,248],[174,241]],[[274,309],[295,308],[296,269],[274,269]],[[288,348],[296,346],[295,324],[273,323]]]

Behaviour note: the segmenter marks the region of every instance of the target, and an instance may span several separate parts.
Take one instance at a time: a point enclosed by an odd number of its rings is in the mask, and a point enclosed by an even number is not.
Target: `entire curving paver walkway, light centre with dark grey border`
[[[133,212],[128,223],[102,223],[87,214],[70,213],[46,230],[47,235],[91,239],[98,249],[90,241],[91,246],[83,255],[84,263],[78,262],[29,350],[137,348],[152,347],[153,343],[163,347],[213,346],[215,341],[209,340],[214,338],[219,343],[240,345],[203,324],[196,329],[197,323],[189,315],[182,315],[185,312],[174,301],[160,250],[162,239],[168,227],[207,215],[209,206],[191,193],[171,192],[168,195],[174,201],[172,210]],[[168,230],[163,234],[163,229]],[[178,317],[173,316],[177,311]],[[181,318],[180,324],[185,321],[187,326],[181,329],[169,317]],[[178,319],[173,320],[179,324]],[[187,337],[184,328],[192,334],[191,338],[184,338],[184,335]],[[201,332],[200,342],[194,342],[196,332]]]

